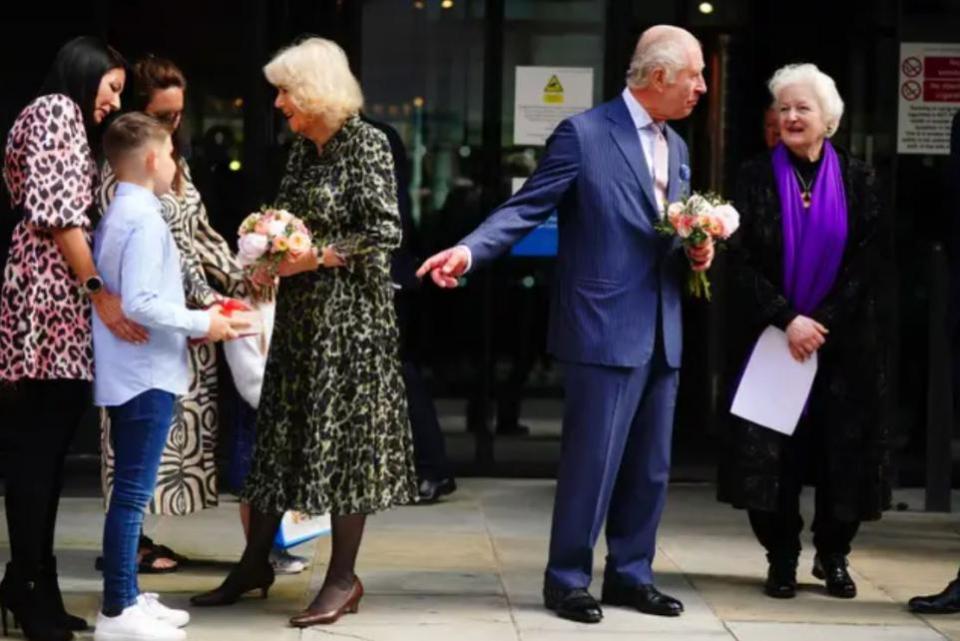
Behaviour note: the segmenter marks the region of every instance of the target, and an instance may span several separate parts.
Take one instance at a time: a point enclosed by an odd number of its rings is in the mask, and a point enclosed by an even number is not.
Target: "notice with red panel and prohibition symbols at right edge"
[[[950,153],[960,109],[960,43],[900,43],[897,153]]]

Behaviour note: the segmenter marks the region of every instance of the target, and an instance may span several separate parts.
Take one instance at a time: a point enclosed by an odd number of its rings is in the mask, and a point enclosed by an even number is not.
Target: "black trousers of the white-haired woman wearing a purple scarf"
[[[774,512],[749,510],[750,526],[767,559],[796,560],[800,555],[800,492],[805,478],[816,482],[813,545],[820,556],[850,554],[850,545],[860,528],[859,521],[841,521],[833,509],[833,479],[823,460],[825,426],[802,419],[796,433],[786,440],[780,462],[779,504]]]

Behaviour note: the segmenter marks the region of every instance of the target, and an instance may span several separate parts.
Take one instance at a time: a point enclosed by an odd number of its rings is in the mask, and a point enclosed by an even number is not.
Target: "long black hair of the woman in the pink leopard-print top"
[[[40,87],[41,96],[59,93],[80,105],[87,138],[91,143],[96,128],[93,112],[96,109],[97,92],[104,74],[111,69],[126,69],[123,56],[109,45],[92,36],[74,38],[60,47],[47,77]]]

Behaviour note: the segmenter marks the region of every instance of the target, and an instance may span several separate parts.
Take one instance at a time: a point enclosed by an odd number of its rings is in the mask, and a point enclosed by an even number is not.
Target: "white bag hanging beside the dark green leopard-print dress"
[[[273,334],[273,317],[276,303],[253,303],[243,301],[252,311],[235,311],[233,317],[250,322],[250,328],[243,336],[223,344],[223,353],[227,365],[233,374],[233,383],[240,397],[256,409],[260,405],[260,392],[263,389],[263,372],[267,367],[267,354],[270,352],[270,337]]]

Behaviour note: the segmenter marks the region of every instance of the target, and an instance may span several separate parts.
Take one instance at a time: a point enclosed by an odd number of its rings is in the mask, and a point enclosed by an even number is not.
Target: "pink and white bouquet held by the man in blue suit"
[[[677,236],[685,247],[697,247],[713,239],[727,240],[740,227],[740,214],[733,205],[714,194],[692,194],[667,206],[657,231]],[[710,300],[706,272],[690,272],[687,289],[695,298]]]

